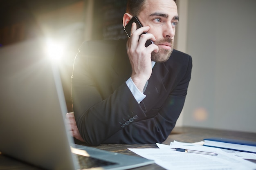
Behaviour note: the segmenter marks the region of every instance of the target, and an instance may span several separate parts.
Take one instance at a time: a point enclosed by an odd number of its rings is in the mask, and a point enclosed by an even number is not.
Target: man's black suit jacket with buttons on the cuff
[[[140,104],[126,80],[131,65],[126,40],[84,42],[74,60],[72,100],[87,144],[155,144],[164,141],[182,111],[191,78],[191,56],[174,50],[156,63]]]

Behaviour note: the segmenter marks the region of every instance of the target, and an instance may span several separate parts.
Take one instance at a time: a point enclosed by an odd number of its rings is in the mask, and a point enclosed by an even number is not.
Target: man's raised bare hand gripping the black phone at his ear
[[[141,26],[137,29],[137,24],[133,22],[130,39],[127,42],[127,53],[132,66],[131,78],[141,92],[152,73],[151,53],[158,52],[158,46],[151,43],[156,40],[154,35],[146,33],[149,29],[149,26]],[[145,46],[148,40],[150,45]]]

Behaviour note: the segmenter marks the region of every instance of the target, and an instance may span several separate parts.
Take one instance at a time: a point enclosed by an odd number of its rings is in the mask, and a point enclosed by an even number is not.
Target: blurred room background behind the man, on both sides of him
[[[256,132],[256,1],[177,0],[177,6],[175,49],[193,58],[177,126]],[[71,112],[72,65],[80,44],[126,38],[125,9],[126,0],[0,0],[0,56],[2,48],[45,38],[58,59]]]

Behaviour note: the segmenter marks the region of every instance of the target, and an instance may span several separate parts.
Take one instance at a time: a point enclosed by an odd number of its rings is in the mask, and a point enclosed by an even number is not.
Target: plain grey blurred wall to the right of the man
[[[179,4],[186,27],[178,32],[186,41],[177,49],[193,58],[179,125],[256,132],[256,1]]]

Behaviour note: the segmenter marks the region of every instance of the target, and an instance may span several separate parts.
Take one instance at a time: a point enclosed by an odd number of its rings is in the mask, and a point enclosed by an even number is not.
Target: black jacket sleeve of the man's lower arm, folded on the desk
[[[123,144],[155,144],[161,143],[173,130],[176,121],[184,106],[187,88],[191,79],[192,58],[189,56],[186,74],[177,84],[175,89],[168,95],[163,106],[155,112],[155,116],[137,121],[124,130],[115,133],[104,143]],[[118,140],[118,141],[117,141]]]

